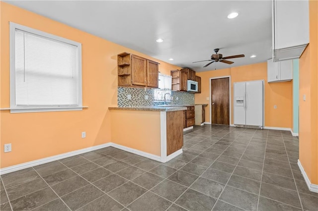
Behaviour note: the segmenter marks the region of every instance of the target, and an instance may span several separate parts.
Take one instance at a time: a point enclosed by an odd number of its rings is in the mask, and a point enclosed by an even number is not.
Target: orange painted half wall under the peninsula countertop
[[[111,110],[111,141],[160,156],[160,112]]]

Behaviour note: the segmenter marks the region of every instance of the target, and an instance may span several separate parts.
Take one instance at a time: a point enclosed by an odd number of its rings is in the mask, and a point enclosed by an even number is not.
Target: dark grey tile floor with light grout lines
[[[1,175],[1,211],[318,210],[290,132],[221,125],[184,133],[160,163],[115,148]]]

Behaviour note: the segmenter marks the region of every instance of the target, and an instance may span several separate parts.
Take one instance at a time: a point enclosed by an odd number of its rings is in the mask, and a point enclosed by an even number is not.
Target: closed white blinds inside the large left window
[[[78,106],[77,46],[15,29],[16,106]]]

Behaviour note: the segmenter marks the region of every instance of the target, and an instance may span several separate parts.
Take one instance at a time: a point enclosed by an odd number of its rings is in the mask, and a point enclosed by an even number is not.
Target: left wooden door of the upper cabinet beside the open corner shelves
[[[132,84],[146,86],[147,60],[143,57],[132,55]]]

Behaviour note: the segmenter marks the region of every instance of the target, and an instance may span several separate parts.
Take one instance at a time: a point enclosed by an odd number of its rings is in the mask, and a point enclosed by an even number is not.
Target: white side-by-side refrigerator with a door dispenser
[[[263,129],[264,80],[234,83],[234,125]]]

